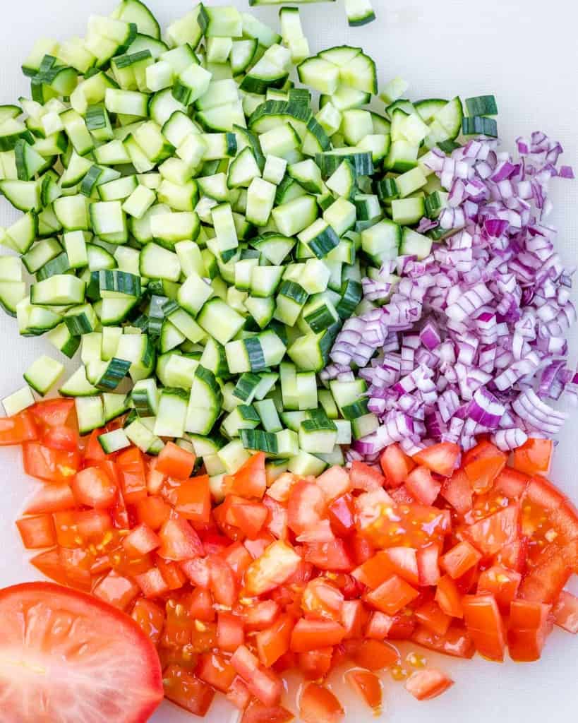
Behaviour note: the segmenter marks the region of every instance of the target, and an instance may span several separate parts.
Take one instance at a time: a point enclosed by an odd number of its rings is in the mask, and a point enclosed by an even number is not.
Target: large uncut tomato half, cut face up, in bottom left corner
[[[150,640],[130,617],[88,595],[52,583],[17,585],[0,591],[0,620],[3,656],[16,655],[29,671],[0,677],[14,721],[56,721],[66,711],[92,723],[114,711],[118,723],[144,723],[163,699]],[[41,675],[33,672],[40,659]]]

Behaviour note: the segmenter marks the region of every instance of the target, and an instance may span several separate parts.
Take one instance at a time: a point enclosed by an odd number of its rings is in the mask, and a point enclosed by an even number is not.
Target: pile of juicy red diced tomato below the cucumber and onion
[[[488,441],[413,458],[392,445],[380,469],[354,462],[317,479],[274,479],[257,453],[215,490],[190,451],[107,455],[104,431],[79,437],[66,399],[0,420],[0,444],[22,445],[44,483],[17,526],[43,549],[38,570],[137,620],[166,697],[194,714],[221,691],[243,723],[288,721],[282,676],[297,669],[309,681],[301,719],[334,723],[329,673],[350,662],[346,680],[379,709],[376,672],[399,669],[396,641],[533,661],[553,623],[578,631],[564,590],[578,513],[545,479],[548,440],[511,458]],[[420,700],[451,684],[428,667],[405,680]]]

